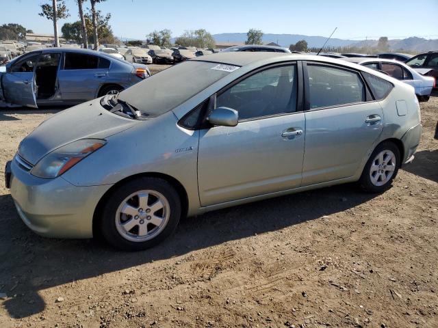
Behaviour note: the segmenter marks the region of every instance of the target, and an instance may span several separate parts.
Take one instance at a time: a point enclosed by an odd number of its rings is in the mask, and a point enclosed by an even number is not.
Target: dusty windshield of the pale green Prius
[[[229,71],[217,63],[185,61],[120,92],[118,98],[149,117],[166,113],[209,85],[226,77]]]

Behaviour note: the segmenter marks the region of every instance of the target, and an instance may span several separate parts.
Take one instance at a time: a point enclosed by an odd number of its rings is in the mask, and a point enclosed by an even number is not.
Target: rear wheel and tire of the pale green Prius
[[[400,168],[400,150],[391,141],[379,144],[363,168],[359,184],[363,191],[383,193],[396,178]]]

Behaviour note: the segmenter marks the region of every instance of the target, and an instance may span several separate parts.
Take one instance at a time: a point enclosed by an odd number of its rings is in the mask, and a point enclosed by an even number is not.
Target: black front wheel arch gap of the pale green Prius
[[[110,195],[114,192],[114,190],[118,187],[120,187],[122,184],[125,184],[129,181],[132,180],[136,180],[138,178],[161,178],[163,180],[166,180],[167,182],[169,182],[172,187],[175,188],[175,190],[177,191],[180,200],[181,200],[181,215],[183,217],[187,216],[188,214],[188,207],[189,207],[189,201],[188,201],[188,194],[187,191],[185,191],[185,188],[183,187],[183,185],[181,184],[181,182],[179,182],[179,180],[177,180],[176,178],[169,176],[168,174],[164,174],[164,173],[159,173],[159,172],[144,172],[144,173],[140,173],[140,174],[134,174],[133,176],[128,176],[127,178],[124,178],[118,182],[116,182],[116,184],[114,184],[110,189],[108,189],[105,194],[101,197],[101,199],[99,200],[99,202],[96,205],[96,208],[94,208],[94,213],[93,213],[93,221],[92,221],[92,234],[93,236],[99,236],[100,237],[100,233],[99,233],[99,223],[101,220],[101,214],[102,214],[102,210],[103,210],[103,205],[105,204],[106,200],[108,197],[110,197]]]

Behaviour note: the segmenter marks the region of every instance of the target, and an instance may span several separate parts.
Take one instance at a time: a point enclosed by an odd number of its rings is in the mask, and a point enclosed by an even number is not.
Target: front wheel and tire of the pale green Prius
[[[140,251],[170,236],[180,217],[181,200],[169,182],[138,178],[110,194],[103,206],[100,228],[105,241],[113,247]]]

